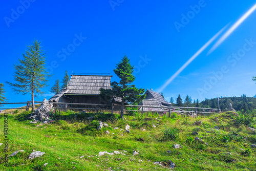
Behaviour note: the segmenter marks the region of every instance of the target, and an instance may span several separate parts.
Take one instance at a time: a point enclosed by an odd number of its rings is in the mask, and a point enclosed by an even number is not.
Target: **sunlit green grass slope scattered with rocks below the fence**
[[[248,125],[254,125],[253,117],[243,121],[242,115],[231,112],[197,118],[180,115],[167,118],[157,114],[142,117],[137,114],[120,120],[119,115],[79,115],[68,111],[52,116],[57,120],[54,123],[36,126],[26,120],[27,116],[26,112],[9,115],[8,155],[20,149],[25,152],[10,157],[9,166],[5,167],[1,146],[0,170],[108,170],[110,167],[112,170],[166,170],[154,162],[167,163],[168,160],[176,164],[173,170],[256,170],[256,149],[250,147],[256,143],[256,135],[247,130]],[[89,121],[89,116],[95,116],[95,119]],[[193,124],[196,120],[202,124]],[[97,121],[111,127],[97,131]],[[0,127],[3,128],[3,124],[4,117],[0,115]],[[120,131],[125,130],[126,124],[131,126],[130,134]],[[220,131],[212,131],[215,126]],[[114,130],[114,127],[119,129]],[[192,136],[194,131],[199,135]],[[195,141],[195,137],[203,141]],[[0,143],[3,139],[1,131]],[[182,148],[174,149],[173,144],[180,144]],[[46,154],[29,160],[33,149]],[[134,150],[139,155],[133,156]],[[103,151],[119,151],[126,155],[96,156]],[[84,158],[80,159],[81,156]],[[45,163],[49,164],[44,167]]]

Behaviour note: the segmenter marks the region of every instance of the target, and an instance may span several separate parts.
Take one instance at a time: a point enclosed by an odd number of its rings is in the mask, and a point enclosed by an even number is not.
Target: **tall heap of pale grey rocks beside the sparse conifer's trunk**
[[[30,121],[30,123],[37,123],[37,122],[43,122],[48,123],[50,122],[49,119],[49,113],[54,112],[53,104],[49,103],[46,98],[41,103],[40,107],[37,108],[29,117],[28,119],[33,119],[33,121]]]

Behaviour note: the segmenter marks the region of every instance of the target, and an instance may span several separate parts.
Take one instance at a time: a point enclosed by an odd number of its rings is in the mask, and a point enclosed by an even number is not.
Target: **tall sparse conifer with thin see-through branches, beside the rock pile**
[[[24,59],[18,59],[18,63],[14,64],[15,83],[7,81],[17,94],[31,94],[33,111],[35,110],[34,97],[45,93],[41,89],[47,86],[48,78],[51,76],[45,67],[46,53],[41,50],[40,44],[40,41],[35,40],[32,45],[28,46],[23,54]]]

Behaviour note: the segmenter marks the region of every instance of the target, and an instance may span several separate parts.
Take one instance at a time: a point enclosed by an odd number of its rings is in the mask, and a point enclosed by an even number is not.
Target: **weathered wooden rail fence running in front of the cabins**
[[[41,101],[35,101],[35,103],[41,103]],[[91,103],[62,103],[62,102],[52,102],[55,109],[62,110],[95,110],[95,111],[120,111],[121,104],[91,104]],[[26,109],[29,111],[31,101],[27,102],[16,102],[16,103],[0,103],[1,104],[27,104],[26,108],[8,108],[0,110],[10,110],[10,109]],[[83,108],[87,106],[87,108]],[[158,112],[158,113],[168,113],[169,117],[172,113],[178,113],[181,115],[191,115],[191,114],[214,114],[219,113],[218,109],[209,108],[194,108],[194,107],[177,107],[177,106],[147,106],[147,105],[124,105],[124,112],[141,112],[141,115],[145,112]],[[127,110],[127,108],[136,108],[136,110]],[[147,110],[145,110],[147,109]],[[148,110],[150,109],[150,110]],[[158,110],[160,109],[160,110]],[[183,110],[184,109],[184,110]]]

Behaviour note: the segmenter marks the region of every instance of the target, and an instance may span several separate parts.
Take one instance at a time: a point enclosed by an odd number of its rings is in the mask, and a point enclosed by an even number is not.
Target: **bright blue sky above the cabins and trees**
[[[47,67],[54,75],[44,96],[36,98],[39,101],[51,97],[51,86],[63,78],[65,70],[69,75],[111,73],[112,81],[118,81],[113,69],[124,54],[136,67],[136,87],[162,91],[168,101],[179,93],[183,99],[188,94],[200,101],[254,96],[254,5],[249,0],[1,1],[0,82],[13,81],[13,63],[22,58],[27,45],[41,40]],[[220,40],[224,41],[219,44]],[[209,53],[212,47],[216,49]],[[29,94],[16,95],[7,85],[5,89],[9,102],[30,100]]]

